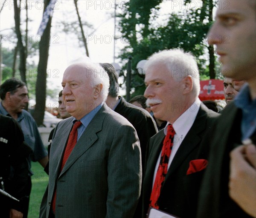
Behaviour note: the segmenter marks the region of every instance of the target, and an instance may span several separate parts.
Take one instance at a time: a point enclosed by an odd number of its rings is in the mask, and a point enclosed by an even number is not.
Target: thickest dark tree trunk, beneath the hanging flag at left
[[[48,6],[50,0],[44,0],[44,11]],[[39,62],[38,62],[38,75],[35,87],[35,113],[34,118],[38,126],[41,126],[44,121],[44,110],[46,103],[46,78],[47,78],[47,63],[49,56],[49,41],[51,32],[52,18],[49,21],[46,29],[41,37],[39,43]]]

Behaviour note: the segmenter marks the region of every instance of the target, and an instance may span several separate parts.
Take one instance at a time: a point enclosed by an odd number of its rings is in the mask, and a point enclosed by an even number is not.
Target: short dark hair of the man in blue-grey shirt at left
[[[13,95],[15,92],[17,92],[18,88],[22,88],[23,86],[26,86],[26,83],[16,78],[6,80],[0,86],[0,98],[4,100],[7,92],[11,92],[11,94]]]

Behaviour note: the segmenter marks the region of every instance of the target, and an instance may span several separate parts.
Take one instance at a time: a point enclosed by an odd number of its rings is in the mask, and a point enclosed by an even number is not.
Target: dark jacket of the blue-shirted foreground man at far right
[[[247,218],[228,195],[230,151],[241,144],[241,109],[230,103],[212,127],[205,143],[210,146],[198,204],[198,218]],[[256,132],[252,136],[256,143]]]

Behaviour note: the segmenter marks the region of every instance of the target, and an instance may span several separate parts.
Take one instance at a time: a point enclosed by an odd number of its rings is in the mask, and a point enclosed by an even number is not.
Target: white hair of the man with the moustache
[[[144,70],[156,64],[163,64],[175,80],[190,76],[193,81],[193,93],[200,93],[200,76],[195,57],[182,49],[163,50],[152,54],[145,63]]]

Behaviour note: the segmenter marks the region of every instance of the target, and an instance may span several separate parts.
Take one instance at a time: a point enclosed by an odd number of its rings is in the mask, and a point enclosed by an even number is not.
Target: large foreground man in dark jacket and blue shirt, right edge
[[[224,9],[223,4],[226,4],[228,9]],[[254,144],[253,146],[256,143],[256,2],[221,0],[217,8],[208,42],[216,45],[222,63],[221,73],[234,80],[244,80],[247,84],[239,91],[236,99],[223,110],[221,117],[212,128],[211,136],[206,141],[210,146],[209,166],[201,187],[197,217],[256,217],[255,167],[253,167],[254,171],[250,171],[252,174],[254,172],[253,181],[249,179],[253,178],[253,175],[242,176],[243,183],[232,185],[233,181],[241,179],[239,178],[243,175],[241,172],[250,166],[248,154],[245,152],[247,145],[242,144],[247,144],[248,140],[250,144]],[[229,40],[225,43],[224,37],[227,36]],[[239,145],[242,147],[235,150],[235,154],[239,152],[240,155],[231,155],[231,157],[235,158],[236,162],[240,159],[244,164],[238,165],[231,161],[230,166],[230,152]],[[245,192],[246,184],[248,186],[253,184],[254,188],[250,191],[253,194]],[[247,197],[240,198],[241,192]],[[253,211],[240,206],[244,198],[250,199],[248,202],[252,205],[250,208]]]

